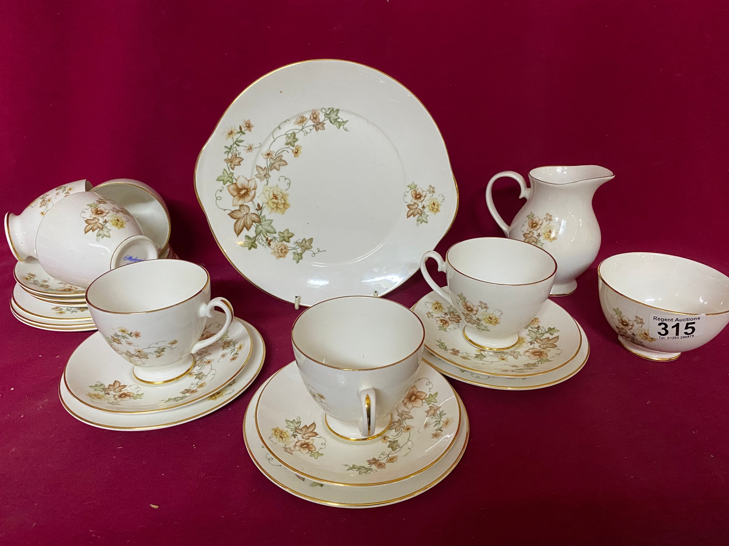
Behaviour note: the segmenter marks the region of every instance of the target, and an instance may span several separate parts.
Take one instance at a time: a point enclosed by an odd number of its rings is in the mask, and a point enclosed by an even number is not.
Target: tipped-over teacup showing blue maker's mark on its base
[[[52,277],[86,288],[115,267],[156,259],[157,246],[124,207],[82,191],[46,213],[36,235],[36,253]]]

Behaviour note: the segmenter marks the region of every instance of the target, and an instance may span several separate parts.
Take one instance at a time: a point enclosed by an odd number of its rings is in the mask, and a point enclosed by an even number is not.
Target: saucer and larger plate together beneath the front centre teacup
[[[311,502],[364,508],[410,499],[453,470],[469,435],[466,409],[440,373],[421,364],[414,387],[416,402],[403,400],[383,435],[345,440],[327,427],[292,362],[252,397],[246,448],[269,480]]]

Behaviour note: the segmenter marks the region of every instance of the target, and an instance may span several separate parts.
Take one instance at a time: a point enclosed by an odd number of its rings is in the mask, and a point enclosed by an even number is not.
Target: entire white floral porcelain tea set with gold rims
[[[511,225],[491,196],[504,176],[526,198]],[[433,248],[458,189],[437,125],[402,84],[313,60],[247,87],[200,151],[195,192],[238,272],[306,307],[292,325],[295,360],[264,381],[243,418],[258,469],[322,505],[401,502],[443,480],[467,446],[467,411],[445,376],[529,390],[578,373],[588,338],[549,298],[574,292],[596,258],[592,197],[613,177],[596,165],[539,167],[528,186],[498,173],[486,203],[506,237],[457,242],[443,257]],[[230,402],[262,368],[262,337],[229,301],[210,298],[208,272],[157,259],[175,256],[149,186],[59,186],[7,215],[5,229],[19,260],[18,320],[98,328],[59,386],[77,419],[170,427]],[[412,308],[381,297],[418,269],[432,291]],[[598,275],[608,323],[640,357],[673,360],[729,322],[729,277],[698,262],[624,253]]]

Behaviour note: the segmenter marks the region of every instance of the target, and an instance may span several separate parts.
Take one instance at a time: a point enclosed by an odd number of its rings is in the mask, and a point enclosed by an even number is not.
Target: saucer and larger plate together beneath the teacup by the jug
[[[444,288],[443,290],[448,290]],[[551,300],[520,333],[514,347],[483,349],[464,336],[466,321],[431,292],[413,312],[425,326],[422,360],[446,376],[491,389],[542,389],[566,381],[588,360],[590,344],[572,316]]]

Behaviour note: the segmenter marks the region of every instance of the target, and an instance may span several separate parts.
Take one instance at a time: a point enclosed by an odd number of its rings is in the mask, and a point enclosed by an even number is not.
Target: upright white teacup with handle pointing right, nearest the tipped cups
[[[210,299],[210,276],[198,264],[149,260],[101,275],[86,291],[91,317],[114,351],[134,365],[134,376],[149,384],[180,379],[195,364],[194,355],[225,336],[233,307]],[[225,324],[200,339],[214,307]]]

